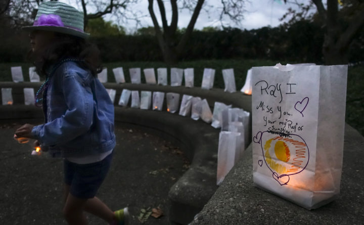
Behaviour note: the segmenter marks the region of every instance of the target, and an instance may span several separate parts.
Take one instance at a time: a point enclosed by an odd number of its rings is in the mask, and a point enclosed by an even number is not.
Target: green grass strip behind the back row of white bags
[[[214,87],[224,88],[222,78],[222,69],[234,68],[237,90],[240,90],[245,82],[247,70],[253,66],[273,66],[277,62],[268,60],[199,60],[180,62],[175,67],[178,68],[194,68],[195,72],[195,86],[200,86],[202,82],[202,74],[204,68],[213,68],[215,72]],[[286,62],[281,62],[286,64]],[[22,66],[24,80],[29,81],[28,68],[31,66],[29,63],[0,63],[0,81],[11,81],[12,66]],[[159,68],[167,67],[163,62],[113,62],[105,63],[108,68],[108,81],[115,82],[112,68],[123,67],[125,80],[130,82],[129,68],[140,67],[142,70],[145,68]],[[169,70],[168,70],[169,73]],[[142,82],[145,82],[142,71]],[[346,122],[357,129],[364,135],[364,66],[349,67],[348,81],[347,81],[347,97],[346,97]]]

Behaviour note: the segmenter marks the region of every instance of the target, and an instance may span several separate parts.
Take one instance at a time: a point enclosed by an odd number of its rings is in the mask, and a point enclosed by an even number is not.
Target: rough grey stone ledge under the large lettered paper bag
[[[345,124],[340,195],[311,211],[253,186],[249,146],[191,224],[362,224],[363,145],[364,137]]]

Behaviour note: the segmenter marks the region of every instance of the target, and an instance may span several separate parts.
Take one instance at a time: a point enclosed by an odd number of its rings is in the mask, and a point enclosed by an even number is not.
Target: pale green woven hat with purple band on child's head
[[[60,2],[40,3],[33,26],[22,28],[29,31],[54,31],[82,38],[89,36],[89,33],[83,31],[83,13],[70,5]]]

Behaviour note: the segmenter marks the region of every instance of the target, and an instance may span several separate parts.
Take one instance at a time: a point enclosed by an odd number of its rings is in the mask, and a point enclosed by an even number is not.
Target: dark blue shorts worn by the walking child
[[[65,159],[64,179],[70,186],[71,195],[81,199],[94,198],[109,171],[112,155],[89,164],[77,164]]]

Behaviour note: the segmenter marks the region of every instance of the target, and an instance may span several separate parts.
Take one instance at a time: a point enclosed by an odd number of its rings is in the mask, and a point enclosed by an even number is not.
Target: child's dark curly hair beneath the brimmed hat
[[[94,76],[101,72],[100,50],[87,40],[57,33],[50,46],[42,52],[28,53],[28,60],[35,65],[35,71],[42,77],[47,76],[47,68],[67,57],[79,59],[79,66],[89,70]]]

